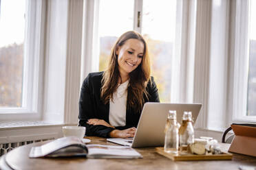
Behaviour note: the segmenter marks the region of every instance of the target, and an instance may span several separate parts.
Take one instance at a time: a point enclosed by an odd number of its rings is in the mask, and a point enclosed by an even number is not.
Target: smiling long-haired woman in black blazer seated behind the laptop
[[[138,32],[125,32],[111,50],[107,71],[89,73],[83,82],[79,125],[88,136],[133,137],[147,101],[159,102],[147,43]]]

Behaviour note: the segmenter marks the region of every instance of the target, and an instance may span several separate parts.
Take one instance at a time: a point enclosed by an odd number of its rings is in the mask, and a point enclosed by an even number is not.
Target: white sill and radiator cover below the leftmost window
[[[60,138],[62,126],[45,121],[0,121],[0,156],[15,147]]]

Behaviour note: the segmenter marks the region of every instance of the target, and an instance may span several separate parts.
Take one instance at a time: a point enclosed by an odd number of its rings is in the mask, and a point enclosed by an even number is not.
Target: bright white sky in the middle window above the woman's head
[[[175,1],[170,0],[143,1],[142,34],[149,34],[155,40],[173,41],[175,38],[175,6]],[[133,29],[133,20],[134,1],[100,1],[98,27],[100,36],[118,37]]]

